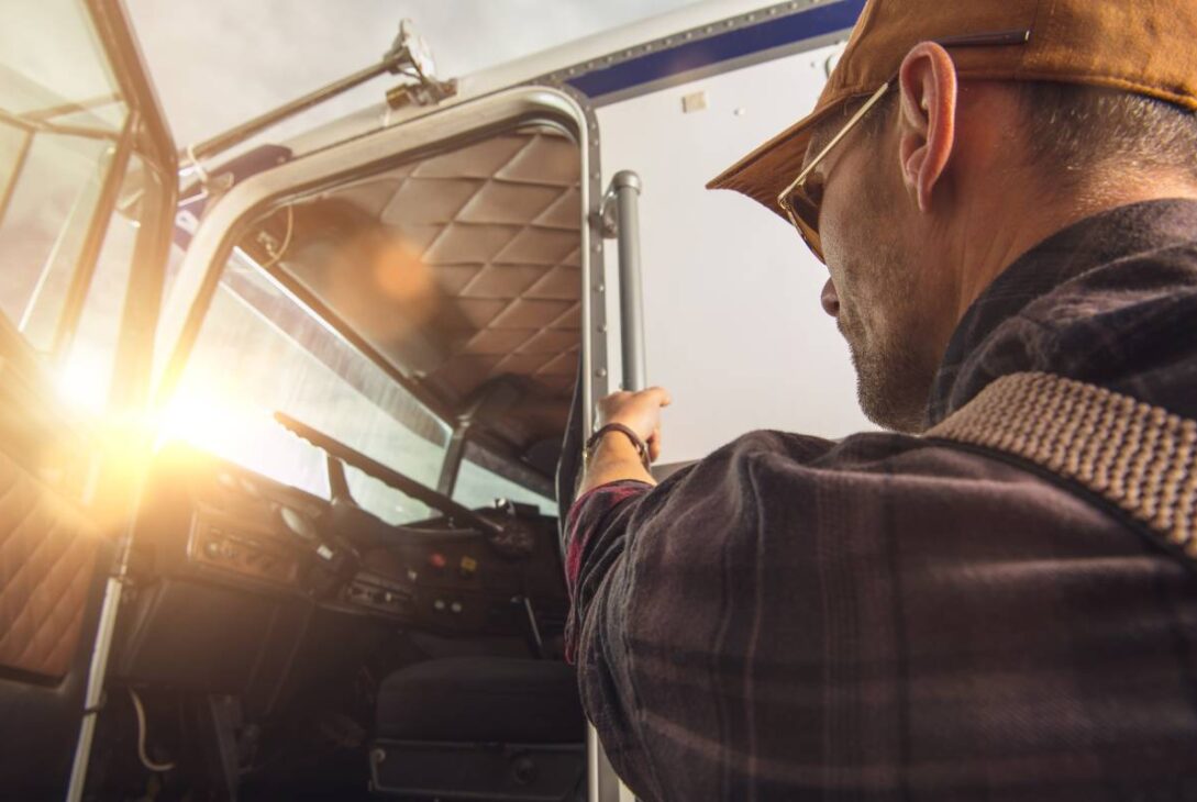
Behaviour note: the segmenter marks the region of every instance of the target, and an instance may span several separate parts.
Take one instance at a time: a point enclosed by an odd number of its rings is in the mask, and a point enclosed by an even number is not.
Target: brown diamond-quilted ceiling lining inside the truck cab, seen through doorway
[[[581,348],[579,172],[578,146],[542,127],[407,164],[297,205],[282,267],[449,408],[515,378],[505,435],[559,438]]]

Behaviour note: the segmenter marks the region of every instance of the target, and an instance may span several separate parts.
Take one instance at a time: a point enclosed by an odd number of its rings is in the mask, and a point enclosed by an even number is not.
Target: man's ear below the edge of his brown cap
[[[903,183],[928,212],[955,146],[956,66],[935,42],[916,44],[898,73]]]

